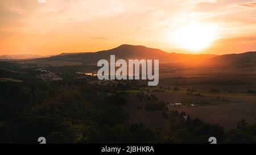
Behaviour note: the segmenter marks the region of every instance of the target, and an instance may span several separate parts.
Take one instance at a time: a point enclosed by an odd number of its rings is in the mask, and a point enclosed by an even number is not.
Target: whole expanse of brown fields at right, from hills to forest
[[[174,110],[184,111],[192,118],[207,123],[222,125],[226,130],[236,127],[241,119],[248,123],[256,122],[256,94],[248,93],[248,90],[256,90],[255,68],[182,70],[160,77],[159,86],[165,92],[154,92],[160,100],[169,103],[206,103],[195,107],[175,107]],[[179,91],[174,91],[174,87],[179,87]],[[195,89],[193,94],[199,93],[201,96],[186,94],[188,89]],[[211,89],[218,93],[211,92]]]

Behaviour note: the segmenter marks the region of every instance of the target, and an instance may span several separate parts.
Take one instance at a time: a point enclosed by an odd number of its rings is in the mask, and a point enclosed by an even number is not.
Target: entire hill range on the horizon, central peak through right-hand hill
[[[193,55],[181,53],[168,53],[160,49],[148,48],[142,45],[120,45],[117,48],[99,52],[61,53],[60,55],[34,58],[24,60],[32,64],[46,66],[65,65],[96,65],[98,60],[110,59],[110,55],[115,55],[116,59],[159,59],[160,64],[175,67],[251,67],[256,66],[256,52],[246,52],[231,55]]]

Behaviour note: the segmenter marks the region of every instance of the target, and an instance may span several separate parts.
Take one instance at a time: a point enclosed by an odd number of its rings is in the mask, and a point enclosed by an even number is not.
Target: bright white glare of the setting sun
[[[198,52],[209,47],[216,39],[216,31],[216,26],[192,23],[177,28],[172,34],[172,40],[180,48]]]

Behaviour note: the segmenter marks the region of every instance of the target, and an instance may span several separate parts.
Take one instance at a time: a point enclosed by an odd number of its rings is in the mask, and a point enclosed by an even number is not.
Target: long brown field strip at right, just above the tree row
[[[202,93],[209,93],[210,89],[217,89],[220,93],[246,93],[249,89],[255,89],[256,76],[229,76],[229,77],[187,77],[167,78],[159,82],[162,87],[180,87],[180,90],[187,91],[194,88]]]

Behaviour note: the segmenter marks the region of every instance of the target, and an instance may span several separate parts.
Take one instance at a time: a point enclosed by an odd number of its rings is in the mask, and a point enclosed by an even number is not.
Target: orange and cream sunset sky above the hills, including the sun
[[[176,53],[256,51],[256,1],[1,0],[0,55],[96,52],[121,44]]]

